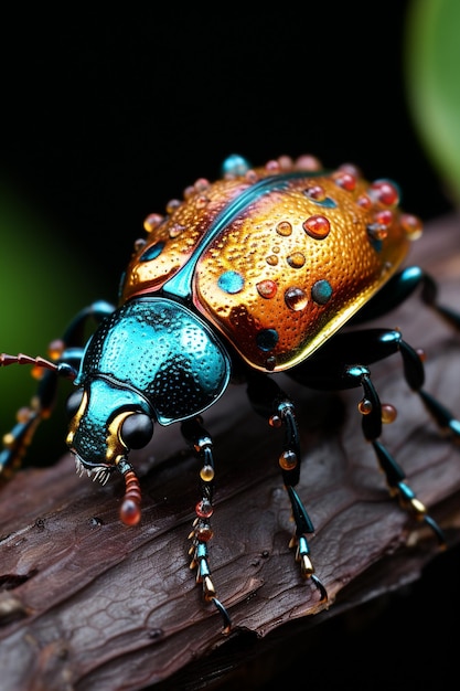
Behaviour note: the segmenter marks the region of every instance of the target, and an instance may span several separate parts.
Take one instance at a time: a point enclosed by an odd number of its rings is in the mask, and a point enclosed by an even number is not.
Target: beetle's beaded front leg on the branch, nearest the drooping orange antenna
[[[192,556],[190,568],[196,568],[196,583],[203,587],[203,596],[206,602],[212,602],[222,615],[224,634],[232,628],[232,620],[224,605],[217,599],[216,589],[211,577],[208,565],[207,542],[213,536],[211,517],[214,512],[214,458],[213,443],[202,425],[201,417],[186,419],[181,426],[182,435],[193,446],[196,456],[202,461],[200,470],[201,500],[195,507],[196,518],[193,521],[193,530],[189,538],[192,541],[189,554]]]

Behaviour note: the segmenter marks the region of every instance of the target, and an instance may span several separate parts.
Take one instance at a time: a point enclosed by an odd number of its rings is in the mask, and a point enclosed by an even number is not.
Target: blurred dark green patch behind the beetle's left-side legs
[[[86,243],[68,240],[68,228],[32,193],[12,188],[0,178],[0,352],[47,357],[49,343],[58,338],[73,315],[101,295],[99,272]],[[85,246],[86,245],[86,246]],[[116,296],[114,296],[116,297]],[[0,433],[15,421],[36,389],[28,365],[0,370]],[[31,463],[51,464],[65,450],[65,398],[62,382],[55,413],[39,427]]]

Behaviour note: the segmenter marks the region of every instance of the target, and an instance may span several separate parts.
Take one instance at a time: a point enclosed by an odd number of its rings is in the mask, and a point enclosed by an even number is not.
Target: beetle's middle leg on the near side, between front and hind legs
[[[300,478],[301,453],[293,404],[278,384],[266,375],[259,376],[253,373],[249,376],[247,393],[256,413],[266,419],[268,418],[271,427],[284,426],[285,438],[282,451],[279,456],[279,465],[296,524],[289,548],[296,549],[296,561],[300,564],[302,577],[310,580],[315,585],[320,593],[321,602],[325,603],[328,600],[327,589],[315,575],[310,559],[308,535],[314,533],[314,527],[295,490],[295,486]]]

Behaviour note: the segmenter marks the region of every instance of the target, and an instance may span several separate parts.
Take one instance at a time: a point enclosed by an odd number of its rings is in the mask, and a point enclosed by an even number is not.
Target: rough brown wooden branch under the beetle
[[[432,224],[410,259],[440,278],[442,302],[460,311],[458,225],[458,217]],[[460,414],[459,336],[417,297],[381,322],[426,350],[426,389]],[[456,545],[459,450],[440,438],[408,390],[399,357],[372,371],[382,401],[399,412],[383,443]],[[264,639],[293,621],[304,630],[419,577],[438,552],[436,540],[389,498],[361,432],[360,391],[336,395],[281,383],[297,402],[304,454],[298,491],[315,525],[311,555],[329,608],[288,549],[280,436],[234,386],[205,416],[216,455],[210,565],[233,619],[231,636],[188,566],[197,461],[179,426],[157,429],[149,449],[132,455],[143,492],[136,528],[118,519],[121,480],[100,487],[81,479],[71,456],[22,470],[2,488],[1,688],[135,691],[165,683],[192,661],[195,674],[222,679],[223,669],[237,666],[238,640],[248,632]],[[213,668],[210,652],[217,649]]]

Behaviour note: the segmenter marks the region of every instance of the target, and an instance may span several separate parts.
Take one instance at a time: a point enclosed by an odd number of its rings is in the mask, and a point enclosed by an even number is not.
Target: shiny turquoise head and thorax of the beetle
[[[77,470],[101,481],[115,468],[125,475],[129,450],[148,444],[154,422],[199,415],[229,373],[220,340],[181,304],[142,297],[122,305],[90,338],[68,400]]]

